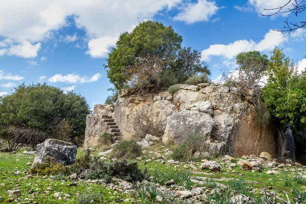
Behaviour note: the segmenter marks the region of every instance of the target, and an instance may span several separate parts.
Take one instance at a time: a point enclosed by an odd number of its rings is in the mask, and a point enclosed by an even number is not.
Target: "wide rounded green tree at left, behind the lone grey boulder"
[[[85,98],[74,92],[65,94],[46,84],[21,84],[14,93],[0,97],[1,136],[10,137],[6,129],[14,126],[39,130],[48,138],[57,138],[64,133],[69,134],[71,141],[75,141],[75,137],[84,139],[89,113]],[[69,133],[65,132],[65,127]],[[36,144],[44,139],[36,141]]]

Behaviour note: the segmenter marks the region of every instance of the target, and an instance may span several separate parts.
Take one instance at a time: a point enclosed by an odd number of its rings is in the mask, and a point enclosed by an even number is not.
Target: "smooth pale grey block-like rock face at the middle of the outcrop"
[[[209,114],[184,110],[168,116],[163,142],[167,142],[169,137],[182,142],[189,135],[201,135],[209,139],[213,126],[214,121]]]

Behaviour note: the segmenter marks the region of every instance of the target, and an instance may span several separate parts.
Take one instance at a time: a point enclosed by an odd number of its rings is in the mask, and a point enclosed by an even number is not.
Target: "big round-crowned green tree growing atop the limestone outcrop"
[[[200,53],[181,44],[182,36],[171,26],[141,22],[132,32],[119,36],[107,59],[108,78],[117,90],[127,85],[143,91],[184,82],[193,74],[209,73]]]

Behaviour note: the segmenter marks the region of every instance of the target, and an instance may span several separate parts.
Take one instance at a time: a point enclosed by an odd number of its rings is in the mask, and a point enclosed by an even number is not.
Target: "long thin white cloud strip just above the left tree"
[[[89,83],[89,82],[96,82],[98,79],[101,77],[101,74],[96,73],[94,74],[91,78],[86,77],[86,76],[80,76],[79,74],[67,74],[67,75],[62,75],[62,74],[55,74],[53,77],[48,79],[49,82],[64,82],[64,83],[70,83],[70,84],[75,84],[75,83]]]

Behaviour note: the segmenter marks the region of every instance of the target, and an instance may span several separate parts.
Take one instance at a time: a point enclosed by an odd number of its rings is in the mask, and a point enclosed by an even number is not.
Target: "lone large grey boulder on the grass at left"
[[[78,148],[71,142],[65,142],[56,139],[46,139],[43,143],[37,145],[36,157],[32,167],[36,163],[42,163],[47,157],[53,157],[56,162],[64,165],[74,164]]]

